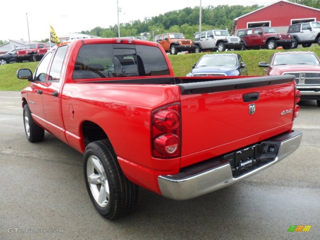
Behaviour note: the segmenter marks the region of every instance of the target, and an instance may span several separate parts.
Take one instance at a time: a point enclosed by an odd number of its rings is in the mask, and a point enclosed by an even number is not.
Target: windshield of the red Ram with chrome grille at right
[[[319,64],[315,54],[310,53],[291,53],[291,54],[278,54],[273,60],[273,65],[286,65],[286,64]]]

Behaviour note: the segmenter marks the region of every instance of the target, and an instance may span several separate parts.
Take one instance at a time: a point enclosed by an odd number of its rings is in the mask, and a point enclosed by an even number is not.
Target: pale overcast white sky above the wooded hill
[[[272,4],[278,0],[201,0],[202,7],[218,5],[261,6]],[[21,1],[22,2],[22,1]],[[50,36],[50,24],[59,36],[68,33],[91,30],[95,27],[108,28],[117,21],[117,2],[119,22],[127,23],[132,20],[144,20],[145,17],[154,17],[165,12],[180,10],[186,7],[200,5],[200,0],[89,0],[89,1],[39,1],[28,0],[14,8],[1,11],[0,40],[43,40]],[[23,4],[25,3],[25,4]],[[164,4],[166,3],[166,4]],[[9,4],[9,2],[7,2]],[[28,18],[28,23],[27,23]]]

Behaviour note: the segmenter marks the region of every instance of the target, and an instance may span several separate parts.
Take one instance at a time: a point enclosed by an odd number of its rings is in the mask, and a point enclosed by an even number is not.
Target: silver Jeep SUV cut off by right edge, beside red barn
[[[288,33],[292,37],[291,48],[310,47],[313,43],[320,45],[320,22],[300,22],[292,24],[288,28]]]

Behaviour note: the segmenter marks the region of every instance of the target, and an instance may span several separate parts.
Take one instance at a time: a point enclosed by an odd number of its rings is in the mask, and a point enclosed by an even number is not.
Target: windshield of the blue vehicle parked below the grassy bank
[[[205,66],[237,66],[237,57],[236,56],[218,56],[212,55],[209,57],[202,57],[196,67],[205,67]]]

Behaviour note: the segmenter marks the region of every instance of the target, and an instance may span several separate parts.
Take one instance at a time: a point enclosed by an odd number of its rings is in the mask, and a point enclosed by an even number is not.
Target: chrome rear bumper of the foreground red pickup
[[[274,154],[275,157],[267,164],[239,177],[234,178],[232,176],[231,165],[228,161],[220,161],[218,165],[206,165],[205,169],[195,167],[176,175],[158,176],[159,188],[163,196],[175,200],[186,200],[216,191],[244,180],[281,161],[299,147],[301,139],[302,132],[294,131],[262,142],[261,144],[267,145],[268,143],[278,144],[279,148]],[[264,154],[262,153],[260,156],[264,156]]]

